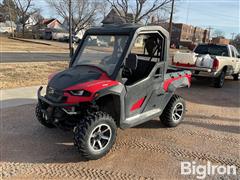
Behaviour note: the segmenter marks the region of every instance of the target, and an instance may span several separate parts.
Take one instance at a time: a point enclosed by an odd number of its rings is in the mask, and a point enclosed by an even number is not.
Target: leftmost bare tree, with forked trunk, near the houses
[[[31,14],[34,14],[36,11],[32,9],[33,0],[14,0],[15,5],[18,8],[17,14],[19,22],[22,24],[22,34],[25,35],[25,27],[27,25],[27,19]]]

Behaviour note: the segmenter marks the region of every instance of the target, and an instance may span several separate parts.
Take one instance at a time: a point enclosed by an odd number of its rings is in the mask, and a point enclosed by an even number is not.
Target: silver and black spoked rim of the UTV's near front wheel
[[[102,151],[105,149],[112,138],[112,130],[107,124],[96,126],[91,132],[89,145],[93,151]]]

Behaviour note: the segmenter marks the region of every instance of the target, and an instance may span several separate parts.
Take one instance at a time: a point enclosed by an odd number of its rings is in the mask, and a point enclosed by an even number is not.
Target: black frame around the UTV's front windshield
[[[118,59],[118,62],[115,65],[115,68],[114,68],[112,74],[107,74],[111,79],[116,79],[116,77],[118,75],[118,72],[119,72],[119,70],[121,68],[121,65],[122,65],[122,63],[123,63],[123,61],[124,61],[124,59],[125,59],[125,57],[127,55],[128,50],[129,50],[129,46],[130,46],[130,44],[132,42],[134,33],[131,33],[131,32],[129,32],[129,33],[122,33],[122,32],[118,32],[118,33],[112,33],[112,32],[111,33],[108,33],[108,32],[105,32],[105,33],[98,33],[98,32],[93,33],[93,32],[91,32],[91,33],[88,33],[88,31],[86,31],[86,33],[84,34],[81,42],[79,43],[79,45],[78,45],[78,47],[76,49],[73,57],[71,58],[71,61],[69,63],[69,67],[73,67],[74,62],[77,60],[77,57],[78,57],[79,53],[81,53],[81,51],[83,50],[82,47],[83,47],[84,42],[86,41],[86,38],[88,36],[104,36],[104,35],[108,35],[108,36],[121,36],[121,35],[124,36],[125,35],[125,36],[128,36],[127,43],[126,43],[126,45],[125,45],[125,47],[123,49],[123,52],[122,52],[121,56]],[[89,66],[91,66],[91,65],[89,65]],[[105,72],[104,70],[102,70],[102,71]]]

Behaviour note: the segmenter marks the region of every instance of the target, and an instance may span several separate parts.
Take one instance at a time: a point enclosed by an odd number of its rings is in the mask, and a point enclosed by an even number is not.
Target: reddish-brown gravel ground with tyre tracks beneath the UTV
[[[192,179],[180,175],[181,161],[240,168],[240,82],[226,80],[223,89],[194,81],[178,94],[187,100],[184,122],[165,128],[158,119],[118,130],[111,152],[85,161],[72,133],[42,127],[34,105],[1,111],[2,178],[7,179]],[[237,179],[208,177],[209,179]],[[238,178],[240,178],[238,176]],[[1,177],[0,177],[1,179]]]

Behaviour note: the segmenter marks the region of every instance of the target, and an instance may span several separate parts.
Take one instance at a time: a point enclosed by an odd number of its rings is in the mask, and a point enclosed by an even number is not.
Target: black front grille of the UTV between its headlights
[[[63,103],[67,97],[64,96],[63,91],[47,86],[46,98],[54,102]]]

